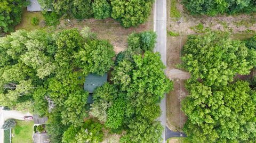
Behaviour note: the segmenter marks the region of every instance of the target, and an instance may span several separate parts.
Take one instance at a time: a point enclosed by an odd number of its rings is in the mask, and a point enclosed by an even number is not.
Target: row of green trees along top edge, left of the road
[[[124,27],[138,26],[147,21],[154,0],[38,0],[44,10],[51,9],[58,15],[76,19],[114,18]]]

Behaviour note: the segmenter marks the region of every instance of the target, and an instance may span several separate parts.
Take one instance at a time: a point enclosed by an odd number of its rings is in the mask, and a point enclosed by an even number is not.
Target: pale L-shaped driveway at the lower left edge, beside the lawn
[[[19,111],[6,111],[3,110],[2,107],[0,107],[0,128],[2,128],[2,125],[4,124],[4,121],[7,119],[17,119],[17,120],[24,120],[24,116],[31,116],[30,113],[22,113]],[[0,129],[0,143],[4,142],[4,130]]]

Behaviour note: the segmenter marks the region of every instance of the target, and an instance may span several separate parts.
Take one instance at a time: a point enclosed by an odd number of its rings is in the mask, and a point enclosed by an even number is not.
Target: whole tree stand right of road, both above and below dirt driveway
[[[255,67],[256,47],[248,46],[254,42],[214,33],[189,36],[181,66],[191,73],[182,101],[188,116],[183,131],[191,142],[256,141],[256,92],[247,81],[233,81]]]

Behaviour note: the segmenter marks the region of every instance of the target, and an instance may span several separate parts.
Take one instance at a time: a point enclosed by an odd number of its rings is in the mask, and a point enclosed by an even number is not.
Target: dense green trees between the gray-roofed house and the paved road
[[[158,104],[173,85],[159,53],[151,52],[155,38],[153,32],[130,35],[129,48],[117,55],[111,72],[113,85],[107,82],[93,94],[90,113],[113,131],[127,129],[121,142],[161,141]]]

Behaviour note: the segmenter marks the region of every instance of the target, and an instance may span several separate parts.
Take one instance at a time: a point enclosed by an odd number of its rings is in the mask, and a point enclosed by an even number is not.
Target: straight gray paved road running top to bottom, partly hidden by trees
[[[154,52],[161,54],[161,60],[166,65],[166,0],[156,0],[154,7],[154,31],[157,33],[157,43]],[[166,126],[166,96],[160,104],[162,115],[158,118],[162,126]],[[162,133],[165,142],[165,130]]]

